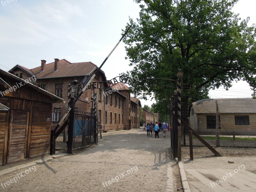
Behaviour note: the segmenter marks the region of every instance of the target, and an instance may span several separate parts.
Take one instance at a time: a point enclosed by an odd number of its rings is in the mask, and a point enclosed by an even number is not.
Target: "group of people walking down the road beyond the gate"
[[[148,123],[147,125],[144,123],[143,124],[143,131],[147,130],[147,136],[148,137],[152,137],[153,132],[155,132],[155,138],[157,136],[157,138],[159,138],[159,132],[163,132],[164,138],[166,137],[166,132],[170,131],[170,125],[163,123],[161,124],[161,122],[159,122],[159,124],[155,123]],[[150,135],[151,134],[151,135]]]

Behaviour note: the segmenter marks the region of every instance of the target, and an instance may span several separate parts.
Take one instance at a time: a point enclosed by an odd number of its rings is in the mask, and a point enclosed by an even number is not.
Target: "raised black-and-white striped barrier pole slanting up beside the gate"
[[[79,93],[79,95],[76,97],[76,99],[74,100],[73,104],[70,105],[70,107],[68,108],[67,112],[65,113],[65,115],[62,117],[62,119],[60,120],[59,124],[56,126],[56,128],[54,129],[54,131],[57,131],[57,129],[59,128],[60,124],[62,123],[62,121],[65,119],[65,117],[68,115],[68,113],[70,112],[71,108],[75,105],[76,101],[80,98],[80,96],[84,93],[84,91],[87,89],[88,85],[92,82],[92,79],[94,79],[94,77],[97,75],[97,73],[100,71],[100,68],[102,68],[102,66],[104,65],[104,63],[108,60],[109,56],[112,54],[112,52],[116,49],[116,47],[118,46],[118,44],[122,41],[122,39],[124,38],[124,36],[128,33],[129,29],[132,27],[132,25],[129,26],[129,28],[125,31],[124,35],[121,37],[121,39],[118,41],[118,43],[116,44],[116,46],[114,47],[114,49],[112,49],[112,51],[108,54],[108,56],[106,57],[106,59],[102,62],[102,64],[100,65],[100,67],[97,69],[97,71],[93,74],[93,76],[91,77],[91,79],[88,81],[88,83],[84,86],[83,90]]]

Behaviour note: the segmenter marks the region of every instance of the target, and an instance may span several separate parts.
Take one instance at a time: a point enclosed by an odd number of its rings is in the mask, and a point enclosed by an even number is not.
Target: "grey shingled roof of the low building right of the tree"
[[[195,113],[215,113],[217,100],[219,113],[256,113],[256,99],[203,99],[192,103]]]

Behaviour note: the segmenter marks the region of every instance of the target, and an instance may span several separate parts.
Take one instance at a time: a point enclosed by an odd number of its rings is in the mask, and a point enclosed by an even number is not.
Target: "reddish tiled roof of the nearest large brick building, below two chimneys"
[[[70,63],[68,60],[59,60],[58,70],[54,71],[54,62],[45,65],[45,70],[41,72],[41,66],[31,69],[38,79],[57,78],[68,76],[90,75],[96,69],[97,65],[92,62]],[[103,71],[101,71],[104,73]]]

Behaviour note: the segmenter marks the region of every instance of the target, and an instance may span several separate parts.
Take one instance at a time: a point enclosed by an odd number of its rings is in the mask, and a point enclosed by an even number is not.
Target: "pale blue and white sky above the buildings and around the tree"
[[[9,3],[8,3],[9,2]],[[133,0],[0,0],[0,68],[8,71],[19,64],[27,68],[51,63],[54,58],[72,63],[87,62],[100,66],[121,38],[122,29],[139,17]],[[255,23],[255,0],[240,0],[233,11]],[[132,70],[121,42],[102,70],[107,79]],[[232,83],[210,91],[211,98],[251,97],[246,82]],[[148,97],[150,98],[150,97]],[[141,100],[151,106],[154,100]]]

